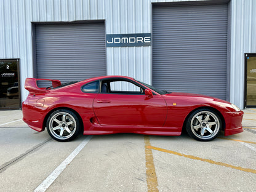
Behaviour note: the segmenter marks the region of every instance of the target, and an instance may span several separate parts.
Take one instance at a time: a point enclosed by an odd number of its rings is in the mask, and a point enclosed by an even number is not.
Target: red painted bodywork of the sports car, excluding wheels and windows
[[[191,111],[212,108],[223,116],[225,135],[242,132],[243,112],[236,112],[231,103],[218,98],[175,92],[160,95],[145,86],[145,95],[82,92],[84,84],[104,78],[124,78],[140,84],[124,76],[103,76],[46,90],[36,86],[36,79],[28,78],[25,88],[30,94],[22,105],[23,121],[40,132],[46,127],[47,116],[53,110],[69,108],[76,111],[82,119],[85,135],[180,135],[183,123]],[[59,84],[56,80],[50,81],[54,87]],[[174,103],[177,105],[173,105]]]

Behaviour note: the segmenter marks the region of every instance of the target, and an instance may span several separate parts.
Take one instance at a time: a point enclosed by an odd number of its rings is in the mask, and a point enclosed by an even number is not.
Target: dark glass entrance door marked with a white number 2
[[[20,108],[18,59],[0,60],[0,110]]]

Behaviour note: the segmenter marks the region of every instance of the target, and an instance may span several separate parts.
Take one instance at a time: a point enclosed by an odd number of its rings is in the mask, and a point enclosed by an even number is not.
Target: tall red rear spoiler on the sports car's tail
[[[59,80],[52,80],[52,79],[36,79],[36,78],[26,78],[25,81],[25,89],[28,90],[30,93],[45,93],[48,92],[46,88],[39,88],[36,81],[52,81],[52,87],[61,86],[62,83]]]

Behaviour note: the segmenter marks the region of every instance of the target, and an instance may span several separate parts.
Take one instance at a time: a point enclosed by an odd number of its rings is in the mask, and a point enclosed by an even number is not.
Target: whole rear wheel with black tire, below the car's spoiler
[[[50,137],[58,142],[68,142],[79,134],[78,116],[70,110],[57,110],[50,114],[46,122]]]

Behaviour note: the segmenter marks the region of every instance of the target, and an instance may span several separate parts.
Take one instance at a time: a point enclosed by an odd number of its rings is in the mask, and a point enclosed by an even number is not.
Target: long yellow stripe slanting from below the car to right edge
[[[165,149],[158,148],[158,147],[154,147],[154,146],[147,146],[147,147],[148,147],[148,148],[151,148],[152,150],[158,150],[158,151],[162,151],[162,152],[170,153],[170,154],[175,154],[175,155],[182,156],[182,157],[189,158],[189,159],[194,159],[194,160],[209,162],[210,164],[215,164],[215,165],[224,166],[224,167],[230,167],[230,168],[232,168],[232,169],[242,170],[242,171],[244,171],[244,172],[249,172],[249,173],[256,174],[256,170],[255,170],[255,169],[247,169],[247,168],[243,168],[243,167],[232,166],[232,165],[226,164],[226,163],[224,163],[224,162],[217,162],[217,161],[212,161],[212,160],[210,160],[210,159],[198,158],[198,157],[193,156],[193,155],[182,154],[182,153],[178,153],[178,152],[170,151],[170,150],[165,150]]]

